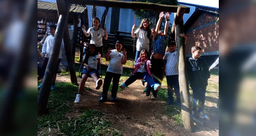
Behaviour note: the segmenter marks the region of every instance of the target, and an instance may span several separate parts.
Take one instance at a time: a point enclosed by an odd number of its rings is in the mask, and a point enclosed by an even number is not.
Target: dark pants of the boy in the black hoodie
[[[192,91],[193,91],[193,99],[192,99],[193,109],[192,109],[192,111],[196,112],[196,108],[197,108],[196,105],[197,105],[197,101],[198,101],[198,112],[203,112],[206,86],[193,87]]]

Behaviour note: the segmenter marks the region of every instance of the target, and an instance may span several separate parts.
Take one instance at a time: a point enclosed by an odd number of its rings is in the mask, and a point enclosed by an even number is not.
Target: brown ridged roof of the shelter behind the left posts
[[[40,10],[56,10],[57,11],[57,3],[37,1],[37,8]],[[79,5],[71,5],[69,12],[83,13],[85,8],[86,7],[79,6]]]

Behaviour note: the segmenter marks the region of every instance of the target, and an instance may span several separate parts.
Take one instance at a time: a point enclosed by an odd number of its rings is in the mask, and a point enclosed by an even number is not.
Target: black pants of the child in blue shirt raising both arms
[[[154,79],[154,81],[157,84],[162,84],[163,81],[163,59],[156,59],[151,58],[151,74]],[[150,88],[150,86],[147,84],[147,89]]]

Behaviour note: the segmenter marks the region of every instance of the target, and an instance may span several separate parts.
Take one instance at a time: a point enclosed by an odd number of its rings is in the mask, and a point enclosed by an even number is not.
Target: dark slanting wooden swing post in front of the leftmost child
[[[42,87],[38,96],[38,115],[46,114],[46,107],[51,91],[53,75],[55,73],[56,64],[60,52],[61,42],[67,25],[68,14],[71,5],[68,0],[56,0],[58,13],[60,14],[57,29],[54,35],[53,47],[50,53],[50,58],[45,70]]]

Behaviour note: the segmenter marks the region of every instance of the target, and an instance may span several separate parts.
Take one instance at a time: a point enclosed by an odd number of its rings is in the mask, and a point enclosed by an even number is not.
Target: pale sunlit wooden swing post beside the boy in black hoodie
[[[183,6],[179,6],[177,10],[177,15],[183,15],[182,11],[186,8]],[[182,18],[182,17],[181,17]],[[176,18],[175,18],[176,19]],[[191,104],[190,104],[190,94],[188,87],[188,73],[187,73],[187,62],[186,62],[186,53],[185,53],[185,42],[184,38],[180,36],[183,33],[183,20],[181,20],[178,24],[176,23],[175,27],[175,39],[176,46],[178,47],[179,52],[179,84],[180,84],[180,96],[181,96],[181,113],[182,120],[185,126],[185,129],[193,132],[194,123],[190,118],[191,113]]]

